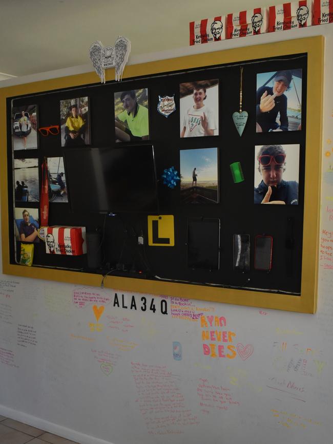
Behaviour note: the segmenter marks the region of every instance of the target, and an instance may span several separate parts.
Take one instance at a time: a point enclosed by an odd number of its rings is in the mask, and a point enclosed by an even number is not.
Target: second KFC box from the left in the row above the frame
[[[226,38],[246,37],[267,32],[266,8],[248,9],[226,16]]]

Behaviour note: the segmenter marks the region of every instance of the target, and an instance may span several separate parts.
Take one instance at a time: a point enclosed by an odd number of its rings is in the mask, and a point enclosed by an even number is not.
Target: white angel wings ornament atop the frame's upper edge
[[[97,40],[89,48],[89,57],[101,83],[105,83],[105,70],[115,67],[115,80],[122,79],[122,73],[131,52],[131,42],[120,35],[113,46],[103,46]]]

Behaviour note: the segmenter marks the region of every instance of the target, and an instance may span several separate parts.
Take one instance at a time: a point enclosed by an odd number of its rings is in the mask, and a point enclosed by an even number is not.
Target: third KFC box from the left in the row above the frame
[[[288,29],[311,26],[311,0],[283,3],[269,6],[268,32],[286,31]]]

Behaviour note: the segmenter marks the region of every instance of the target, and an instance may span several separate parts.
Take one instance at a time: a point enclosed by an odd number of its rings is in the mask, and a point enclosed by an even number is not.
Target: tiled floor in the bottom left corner
[[[0,444],[78,444],[0,415]]]

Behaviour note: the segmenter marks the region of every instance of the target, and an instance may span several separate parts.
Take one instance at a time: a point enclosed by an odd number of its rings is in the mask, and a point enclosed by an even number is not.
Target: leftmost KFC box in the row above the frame
[[[199,22],[190,22],[190,45],[201,45],[211,41],[225,39],[225,16],[203,18]]]

